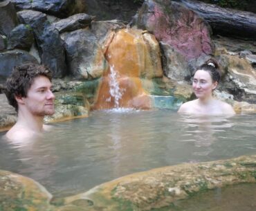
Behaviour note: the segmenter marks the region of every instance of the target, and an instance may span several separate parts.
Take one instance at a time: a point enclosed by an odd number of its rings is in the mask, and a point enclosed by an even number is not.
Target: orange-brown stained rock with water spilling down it
[[[93,108],[150,109],[140,77],[152,80],[163,75],[154,36],[134,28],[120,29],[109,35],[104,52],[109,68],[103,74]]]

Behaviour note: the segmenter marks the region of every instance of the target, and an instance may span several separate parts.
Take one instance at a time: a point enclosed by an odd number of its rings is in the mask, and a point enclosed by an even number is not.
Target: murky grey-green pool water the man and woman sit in
[[[56,123],[44,138],[27,143],[2,137],[0,169],[34,178],[57,196],[77,194],[156,167],[255,154],[255,117],[95,111],[89,118]]]

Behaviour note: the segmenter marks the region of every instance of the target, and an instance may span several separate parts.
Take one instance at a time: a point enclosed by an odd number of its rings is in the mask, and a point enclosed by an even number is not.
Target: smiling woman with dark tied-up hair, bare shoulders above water
[[[192,88],[196,100],[185,102],[179,108],[179,113],[195,114],[235,114],[230,104],[214,99],[212,91],[216,89],[221,78],[218,71],[219,64],[214,59],[209,59],[194,73]]]

